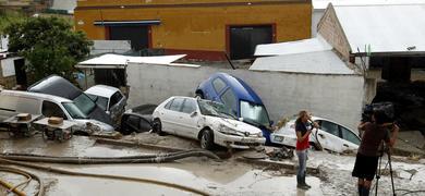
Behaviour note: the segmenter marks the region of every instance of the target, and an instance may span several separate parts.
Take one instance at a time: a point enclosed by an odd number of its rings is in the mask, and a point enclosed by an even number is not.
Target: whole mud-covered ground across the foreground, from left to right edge
[[[39,135],[26,139],[11,139],[0,134],[0,152],[25,152],[52,156],[92,156],[119,157],[165,152],[146,148],[129,148],[122,146],[100,145],[88,137],[73,137],[66,143],[45,142]],[[123,140],[147,143],[179,148],[198,148],[198,143],[180,137],[158,136],[156,134],[137,134],[125,136]],[[221,149],[219,152],[222,151]],[[351,177],[351,169],[355,157],[332,155],[325,151],[312,151],[308,167],[318,168],[320,173],[308,175],[307,183],[313,187],[304,192],[296,189],[293,170],[277,169],[267,164],[244,163],[238,161],[247,151],[236,150],[232,158],[215,161],[208,158],[187,158],[170,163],[149,164],[45,164],[71,171],[113,174],[165,181],[194,187],[210,195],[355,195],[355,179]],[[254,154],[254,152],[253,152]],[[293,160],[279,161],[296,164]],[[382,168],[387,163],[382,159]],[[393,157],[394,184],[397,189],[424,189],[425,160],[411,161],[402,157]],[[21,167],[20,167],[21,168]],[[46,185],[46,195],[193,195],[168,186],[58,175],[21,168],[41,176]],[[0,172],[0,179],[19,184],[24,177]],[[32,182],[23,191],[32,195],[37,183]],[[0,193],[7,194],[4,188]],[[384,175],[379,181],[379,195],[390,195],[390,177]],[[399,191],[399,195],[404,192]],[[8,194],[7,194],[8,195]],[[9,194],[12,195],[12,194]],[[414,195],[414,194],[412,194]],[[424,195],[417,193],[416,195]]]

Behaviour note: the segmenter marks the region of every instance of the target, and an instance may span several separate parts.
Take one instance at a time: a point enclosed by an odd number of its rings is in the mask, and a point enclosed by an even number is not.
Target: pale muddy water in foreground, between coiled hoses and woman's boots
[[[217,164],[210,161],[182,161],[165,164],[56,167],[78,172],[158,180],[195,187],[211,195],[321,195],[320,182],[317,177],[307,177],[306,181],[313,187],[307,192],[303,192],[296,189],[296,180],[293,175],[279,175],[278,171],[263,171],[242,163]],[[48,195],[191,194],[175,188],[145,183],[51,174],[48,174],[48,177],[58,179],[57,184],[49,189]]]

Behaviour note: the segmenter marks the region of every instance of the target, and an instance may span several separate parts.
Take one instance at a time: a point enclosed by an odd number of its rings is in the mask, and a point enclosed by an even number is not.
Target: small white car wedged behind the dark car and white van
[[[121,90],[116,87],[96,85],[84,93],[90,97],[97,106],[105,110],[114,122],[118,122],[118,119],[125,111],[126,98]]]

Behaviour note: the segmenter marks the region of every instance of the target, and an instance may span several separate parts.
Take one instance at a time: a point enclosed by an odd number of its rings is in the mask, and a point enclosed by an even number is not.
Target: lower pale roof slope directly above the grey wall
[[[257,58],[250,70],[312,74],[354,74],[331,50]]]

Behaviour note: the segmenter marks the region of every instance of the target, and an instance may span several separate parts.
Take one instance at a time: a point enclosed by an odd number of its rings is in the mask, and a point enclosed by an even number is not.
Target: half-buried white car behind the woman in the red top
[[[313,147],[318,147],[320,144],[324,149],[336,152],[357,150],[361,139],[353,131],[327,119],[313,117],[312,120],[320,126],[314,128],[309,135],[309,143]],[[295,147],[295,119],[272,133],[270,140],[275,144]]]

